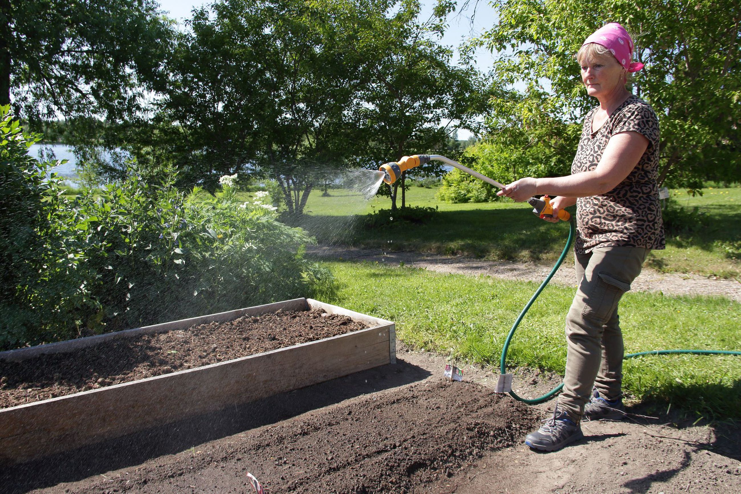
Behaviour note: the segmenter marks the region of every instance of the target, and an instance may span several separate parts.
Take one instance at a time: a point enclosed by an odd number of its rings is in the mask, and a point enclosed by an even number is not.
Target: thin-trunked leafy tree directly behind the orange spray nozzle
[[[365,89],[363,114],[371,150],[393,161],[414,153],[434,153],[446,147],[448,138],[461,127],[476,127],[476,117],[486,111],[484,79],[464,59],[451,63],[452,50],[435,41],[442,36],[444,8],[432,19],[419,22],[419,3],[404,1],[396,15],[380,21],[376,29],[384,36],[374,40],[373,79]],[[447,126],[441,122],[447,121]],[[388,158],[385,161],[391,161]],[[389,195],[396,210],[399,187],[405,207],[407,173],[439,176],[442,167],[427,167],[402,173]]]

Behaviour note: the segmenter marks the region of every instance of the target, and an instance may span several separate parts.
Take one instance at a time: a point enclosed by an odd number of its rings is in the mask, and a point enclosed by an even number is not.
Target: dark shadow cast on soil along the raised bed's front
[[[3,492],[27,493],[62,482],[79,481],[273,424],[348,398],[422,381],[429,375],[431,373],[422,367],[398,360],[396,364],[365,370],[290,393],[3,468],[0,485],[4,486],[3,489],[13,486]]]

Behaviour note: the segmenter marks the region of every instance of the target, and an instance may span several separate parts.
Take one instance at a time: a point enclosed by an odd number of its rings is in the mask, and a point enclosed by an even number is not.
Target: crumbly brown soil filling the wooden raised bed
[[[245,316],[122,338],[19,362],[0,360],[0,408],[202,367],[365,329],[323,310]]]

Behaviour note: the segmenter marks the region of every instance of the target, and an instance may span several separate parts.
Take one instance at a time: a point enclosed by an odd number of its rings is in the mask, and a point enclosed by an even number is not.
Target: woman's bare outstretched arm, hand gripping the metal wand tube
[[[602,159],[594,170],[554,178],[520,178],[496,193],[515,201],[526,201],[536,194],[562,197],[588,197],[613,190],[625,180],[648,147],[648,138],[627,131],[610,138]]]

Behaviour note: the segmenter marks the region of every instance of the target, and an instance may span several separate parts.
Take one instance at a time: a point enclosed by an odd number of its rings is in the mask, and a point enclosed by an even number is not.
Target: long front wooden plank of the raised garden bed
[[[373,327],[196,369],[0,410],[0,463],[94,444],[388,364]]]

